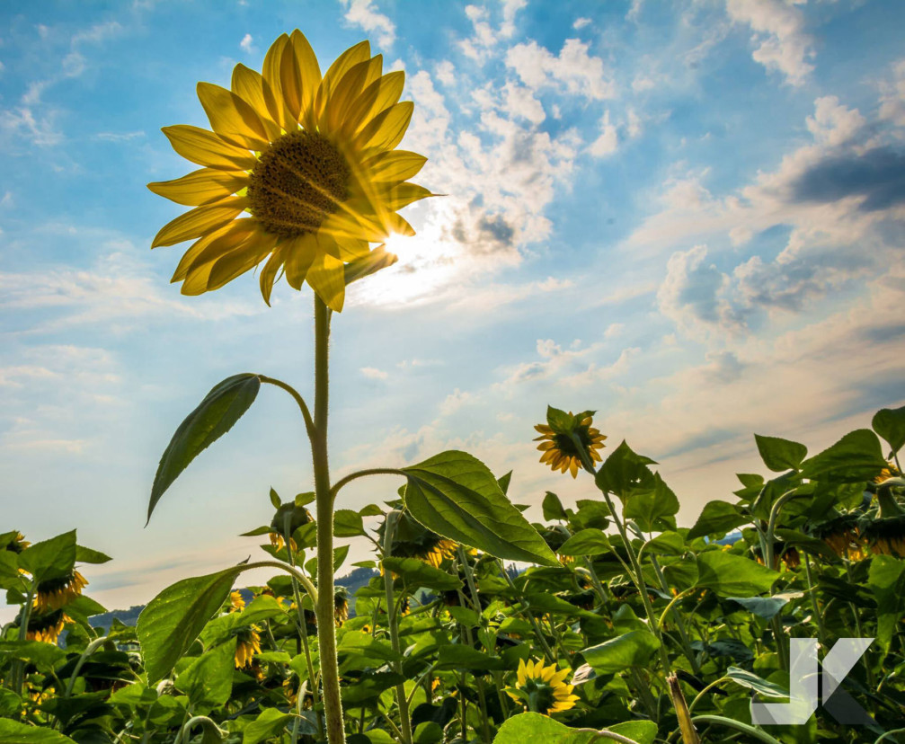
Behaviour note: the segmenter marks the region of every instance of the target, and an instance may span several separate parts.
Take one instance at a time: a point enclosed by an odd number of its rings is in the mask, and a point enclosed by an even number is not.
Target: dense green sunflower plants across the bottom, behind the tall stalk
[[[769,472],[740,474],[735,501],[711,501],[691,529],[652,460],[623,443],[598,465],[589,412],[550,409],[538,431],[544,462],[587,485],[575,504],[544,497],[530,526],[542,548],[508,510],[469,521],[481,500],[510,505],[509,476],[464,453],[405,469],[398,498],[334,512],[338,537],[373,544],[355,565],[378,569],[333,598],[350,744],[905,741],[905,408],[810,458],[757,436]],[[0,742],[323,741],[313,499],[271,491],[271,524],[248,533],[261,561],[181,581],[137,627],[106,632],[84,589],[109,558],[74,531],[0,536],[0,581],[21,606],[0,640]],[[419,499],[450,529],[416,520]],[[524,560],[504,565],[513,550]],[[266,585],[234,589],[262,565]],[[791,637],[824,654],[874,638],[843,682],[866,725],[826,705],[802,725],[751,724],[752,696],[789,695]]]

